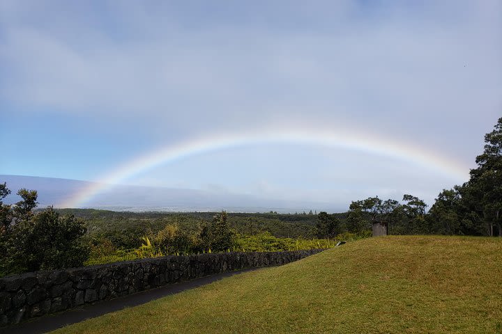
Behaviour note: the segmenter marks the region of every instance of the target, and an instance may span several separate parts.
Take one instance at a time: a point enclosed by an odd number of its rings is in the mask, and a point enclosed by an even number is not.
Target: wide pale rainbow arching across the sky
[[[119,166],[112,173],[100,178],[98,182],[93,182],[58,206],[82,207],[98,194],[163,164],[206,152],[265,144],[316,145],[357,150],[407,161],[434,170],[436,173],[448,175],[459,182],[467,180],[469,176],[469,166],[464,166],[458,161],[445,158],[443,154],[425,150],[416,145],[403,144],[367,133],[354,134],[353,132],[282,127],[282,129],[261,129],[238,134],[214,134],[167,145]]]

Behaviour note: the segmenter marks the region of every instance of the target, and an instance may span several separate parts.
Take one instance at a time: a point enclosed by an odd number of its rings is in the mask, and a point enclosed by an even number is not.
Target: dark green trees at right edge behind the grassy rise
[[[469,181],[443,189],[427,212],[420,198],[406,194],[402,202],[378,196],[351,202],[347,230],[388,227],[390,234],[463,234],[502,237],[502,118],[485,135],[485,147],[476,157]],[[317,237],[339,232],[340,221],[320,212]]]

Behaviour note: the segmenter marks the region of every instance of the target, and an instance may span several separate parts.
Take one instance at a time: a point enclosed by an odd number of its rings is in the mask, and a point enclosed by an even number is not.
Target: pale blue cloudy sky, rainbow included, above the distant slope
[[[430,205],[501,93],[498,0],[0,1],[0,174]]]

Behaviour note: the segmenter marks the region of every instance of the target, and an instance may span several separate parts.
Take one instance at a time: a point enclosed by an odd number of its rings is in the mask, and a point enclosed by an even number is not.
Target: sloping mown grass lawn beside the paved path
[[[54,333],[502,333],[502,239],[363,239]]]

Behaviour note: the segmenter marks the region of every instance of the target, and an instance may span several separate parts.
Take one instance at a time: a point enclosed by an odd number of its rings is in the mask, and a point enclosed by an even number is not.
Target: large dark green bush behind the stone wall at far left
[[[77,267],[89,255],[82,241],[86,233],[83,221],[60,216],[52,207],[33,213],[37,192],[20,189],[22,200],[5,205],[1,199],[10,193],[0,184],[0,276],[9,273]]]

